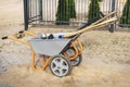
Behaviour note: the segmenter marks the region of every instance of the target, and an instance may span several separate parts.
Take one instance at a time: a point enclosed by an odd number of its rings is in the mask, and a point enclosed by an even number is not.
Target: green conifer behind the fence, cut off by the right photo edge
[[[119,24],[121,27],[123,27],[123,25],[130,24],[130,0],[127,0],[127,2],[125,4]]]

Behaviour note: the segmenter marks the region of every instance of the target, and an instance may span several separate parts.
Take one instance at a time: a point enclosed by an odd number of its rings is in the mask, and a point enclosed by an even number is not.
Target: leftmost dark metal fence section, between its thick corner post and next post
[[[24,0],[25,30],[29,24],[37,21],[42,21],[42,0]]]

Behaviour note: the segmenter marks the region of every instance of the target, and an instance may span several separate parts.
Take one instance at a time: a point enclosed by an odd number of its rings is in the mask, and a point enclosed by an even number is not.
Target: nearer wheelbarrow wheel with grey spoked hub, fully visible
[[[72,71],[70,62],[63,55],[55,55],[50,62],[51,72],[58,77],[69,75]]]

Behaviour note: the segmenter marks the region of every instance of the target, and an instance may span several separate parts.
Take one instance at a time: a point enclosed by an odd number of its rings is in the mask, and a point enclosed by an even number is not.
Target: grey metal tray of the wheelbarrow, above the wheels
[[[36,37],[28,41],[36,53],[53,57],[60,54],[70,40],[72,39],[42,39]]]

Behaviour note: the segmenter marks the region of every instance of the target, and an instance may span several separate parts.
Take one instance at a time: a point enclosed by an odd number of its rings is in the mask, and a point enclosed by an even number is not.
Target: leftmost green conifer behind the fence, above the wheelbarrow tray
[[[58,0],[56,25],[69,25],[68,0]]]

